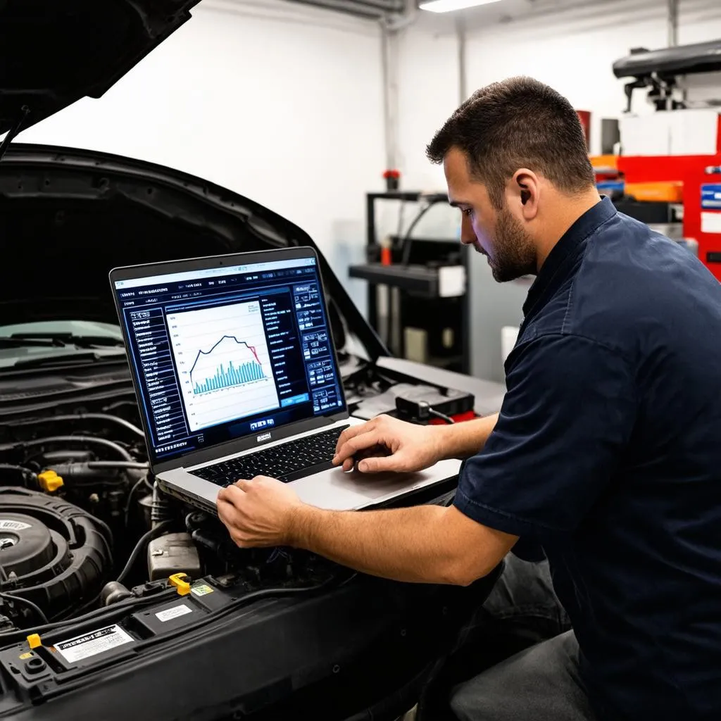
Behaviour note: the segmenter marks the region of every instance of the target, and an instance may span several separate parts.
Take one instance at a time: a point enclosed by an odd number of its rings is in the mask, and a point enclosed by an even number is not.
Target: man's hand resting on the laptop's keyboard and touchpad
[[[363,473],[408,473],[430,468],[445,457],[441,428],[405,423],[380,415],[353,425],[338,438],[333,463]]]

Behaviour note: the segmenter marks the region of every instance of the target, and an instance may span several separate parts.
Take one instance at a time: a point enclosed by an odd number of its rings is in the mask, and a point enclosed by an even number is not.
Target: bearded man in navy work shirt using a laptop
[[[457,716],[718,721],[721,286],[599,197],[578,116],[537,81],[476,92],[428,156],[495,280],[536,275],[507,393],[497,417],[346,430],[335,463],[469,458],[454,505],[330,512],[257,478],[221,491],[222,521],[242,547],[426,583],[469,584],[536,541],[572,630],[461,684]]]

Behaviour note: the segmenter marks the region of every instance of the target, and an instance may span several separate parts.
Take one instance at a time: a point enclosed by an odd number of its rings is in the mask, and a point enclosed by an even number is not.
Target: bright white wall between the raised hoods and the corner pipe
[[[274,0],[221,1],[198,5],[104,97],[18,140],[147,159],[229,187],[306,230],[345,280],[363,257],[364,193],[383,183],[379,27]],[[364,309],[363,283],[349,287]]]

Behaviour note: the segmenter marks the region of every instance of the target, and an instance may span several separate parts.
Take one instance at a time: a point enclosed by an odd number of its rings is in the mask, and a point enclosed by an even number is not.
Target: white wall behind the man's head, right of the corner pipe
[[[454,21],[466,32],[468,91],[513,75],[531,75],[593,114],[592,147],[601,146],[601,118],[624,112],[624,81],[611,66],[630,48],[668,44],[666,0],[503,0],[464,14],[421,15],[402,40],[400,156],[407,184],[442,177],[423,157],[433,131],[461,100]],[[681,0],[678,42],[721,37],[719,0]],[[643,93],[634,108],[642,110]]]

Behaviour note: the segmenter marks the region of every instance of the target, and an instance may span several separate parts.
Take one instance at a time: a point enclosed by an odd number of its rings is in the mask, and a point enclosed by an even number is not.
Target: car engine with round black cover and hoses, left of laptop
[[[132,402],[0,425],[0,631],[73,619],[178,574],[249,592],[333,571],[311,554],[238,549],[217,518],[162,494]]]

